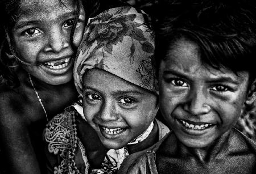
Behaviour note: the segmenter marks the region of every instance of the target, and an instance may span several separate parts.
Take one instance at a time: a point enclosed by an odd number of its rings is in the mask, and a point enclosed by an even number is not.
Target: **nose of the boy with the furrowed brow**
[[[207,114],[210,111],[208,101],[208,97],[206,94],[204,94],[204,91],[201,89],[197,91],[193,90],[187,97],[187,102],[184,104],[184,109],[194,116]]]

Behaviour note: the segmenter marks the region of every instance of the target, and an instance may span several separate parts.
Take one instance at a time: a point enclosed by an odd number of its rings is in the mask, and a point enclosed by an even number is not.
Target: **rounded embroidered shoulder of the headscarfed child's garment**
[[[73,107],[68,107],[48,122],[43,135],[50,153],[56,155],[75,148],[77,114]]]

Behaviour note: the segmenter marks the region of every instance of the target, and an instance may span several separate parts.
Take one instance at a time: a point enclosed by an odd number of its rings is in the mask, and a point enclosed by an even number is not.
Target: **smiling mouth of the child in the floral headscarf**
[[[101,131],[101,134],[108,139],[115,139],[119,137],[127,128],[110,128],[98,125]]]

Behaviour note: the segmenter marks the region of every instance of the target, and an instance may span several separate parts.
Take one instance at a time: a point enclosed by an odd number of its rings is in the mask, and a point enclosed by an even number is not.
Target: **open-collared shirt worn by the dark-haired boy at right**
[[[227,156],[224,156],[224,158],[221,158],[221,155],[218,156],[218,159],[214,159],[214,162],[217,162],[218,165],[214,163],[212,164],[213,168],[201,167],[203,173],[256,173],[256,142],[247,138],[236,128],[232,129],[230,137],[233,139],[230,140],[229,147],[224,147],[219,152],[220,154],[228,154],[228,158]],[[172,156],[165,156],[166,164],[161,164],[162,168],[168,168],[167,171],[158,171],[158,167],[156,167],[158,151],[170,139],[174,139],[174,141],[176,139],[173,131],[150,148],[127,156],[118,173],[197,173],[199,166],[191,164],[188,169],[184,167],[184,160],[172,158]]]

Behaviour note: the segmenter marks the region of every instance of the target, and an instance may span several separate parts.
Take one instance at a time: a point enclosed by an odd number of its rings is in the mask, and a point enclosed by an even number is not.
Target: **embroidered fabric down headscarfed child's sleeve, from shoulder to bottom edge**
[[[75,163],[77,147],[77,131],[75,117],[79,114],[73,107],[53,117],[46,125],[44,139],[48,143],[48,151],[59,155],[61,163],[54,167],[54,173],[80,173]]]

